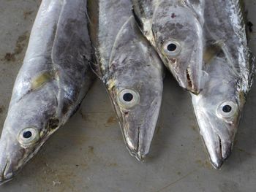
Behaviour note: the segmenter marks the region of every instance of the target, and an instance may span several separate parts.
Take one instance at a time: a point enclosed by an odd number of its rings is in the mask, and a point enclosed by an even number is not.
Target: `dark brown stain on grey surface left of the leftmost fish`
[[[1,59],[1,61],[12,61],[12,62],[16,61],[15,56],[22,53],[24,47],[27,45],[28,39],[29,39],[28,31],[21,34],[16,41],[15,50],[12,53],[6,53],[4,55],[4,58]]]

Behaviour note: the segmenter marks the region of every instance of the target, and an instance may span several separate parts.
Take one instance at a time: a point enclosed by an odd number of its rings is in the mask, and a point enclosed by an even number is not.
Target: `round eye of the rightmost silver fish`
[[[237,109],[238,106],[233,101],[225,101],[219,105],[217,112],[221,118],[231,118],[236,114]]]

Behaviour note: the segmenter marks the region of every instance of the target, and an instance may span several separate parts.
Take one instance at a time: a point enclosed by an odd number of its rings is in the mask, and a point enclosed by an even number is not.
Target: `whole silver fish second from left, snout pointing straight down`
[[[129,153],[143,161],[162,103],[162,61],[140,32],[132,1],[89,1],[88,12],[95,71],[110,96]]]

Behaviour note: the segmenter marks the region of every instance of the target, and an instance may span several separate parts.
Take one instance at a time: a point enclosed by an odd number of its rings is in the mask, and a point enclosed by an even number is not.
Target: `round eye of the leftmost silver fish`
[[[24,148],[29,147],[38,140],[39,132],[37,128],[24,128],[22,131],[20,131],[20,134],[18,136],[18,142],[20,142],[20,145],[22,145],[22,147]]]

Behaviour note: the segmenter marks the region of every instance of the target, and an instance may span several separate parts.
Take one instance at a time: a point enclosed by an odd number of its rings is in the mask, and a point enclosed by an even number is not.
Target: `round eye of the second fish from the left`
[[[123,89],[118,93],[118,103],[124,108],[134,107],[140,101],[140,95],[132,89]]]

